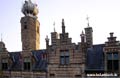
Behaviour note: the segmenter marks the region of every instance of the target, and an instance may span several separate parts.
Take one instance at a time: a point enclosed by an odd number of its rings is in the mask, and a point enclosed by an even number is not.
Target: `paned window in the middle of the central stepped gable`
[[[60,64],[69,64],[69,52],[68,50],[60,51]]]

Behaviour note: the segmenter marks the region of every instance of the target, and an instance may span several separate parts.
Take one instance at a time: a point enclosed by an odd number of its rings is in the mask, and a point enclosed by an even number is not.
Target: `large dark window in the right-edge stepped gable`
[[[119,69],[119,58],[118,53],[108,53],[107,54],[107,70],[108,71],[118,71]]]

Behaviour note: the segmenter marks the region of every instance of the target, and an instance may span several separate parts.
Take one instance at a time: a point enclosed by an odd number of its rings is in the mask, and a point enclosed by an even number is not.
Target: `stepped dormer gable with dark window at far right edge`
[[[120,74],[120,43],[113,36],[113,32],[110,33],[108,41],[105,42],[104,55],[105,55],[105,72],[114,72]]]

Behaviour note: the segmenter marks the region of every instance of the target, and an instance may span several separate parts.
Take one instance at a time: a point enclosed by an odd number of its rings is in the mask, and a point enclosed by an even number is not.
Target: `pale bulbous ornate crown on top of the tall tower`
[[[36,16],[38,14],[37,4],[32,3],[31,0],[25,0],[25,3],[22,6],[22,13],[25,16]]]

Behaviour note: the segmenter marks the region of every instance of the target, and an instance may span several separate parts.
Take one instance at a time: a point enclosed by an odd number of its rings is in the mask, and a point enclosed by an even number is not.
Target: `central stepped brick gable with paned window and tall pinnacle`
[[[58,37],[60,36],[60,39]],[[72,43],[69,34],[65,32],[64,19],[62,33],[51,33],[51,45],[48,45],[48,77],[49,78],[76,78],[84,76],[85,69],[85,42],[78,45]],[[54,41],[54,42],[53,42]]]

